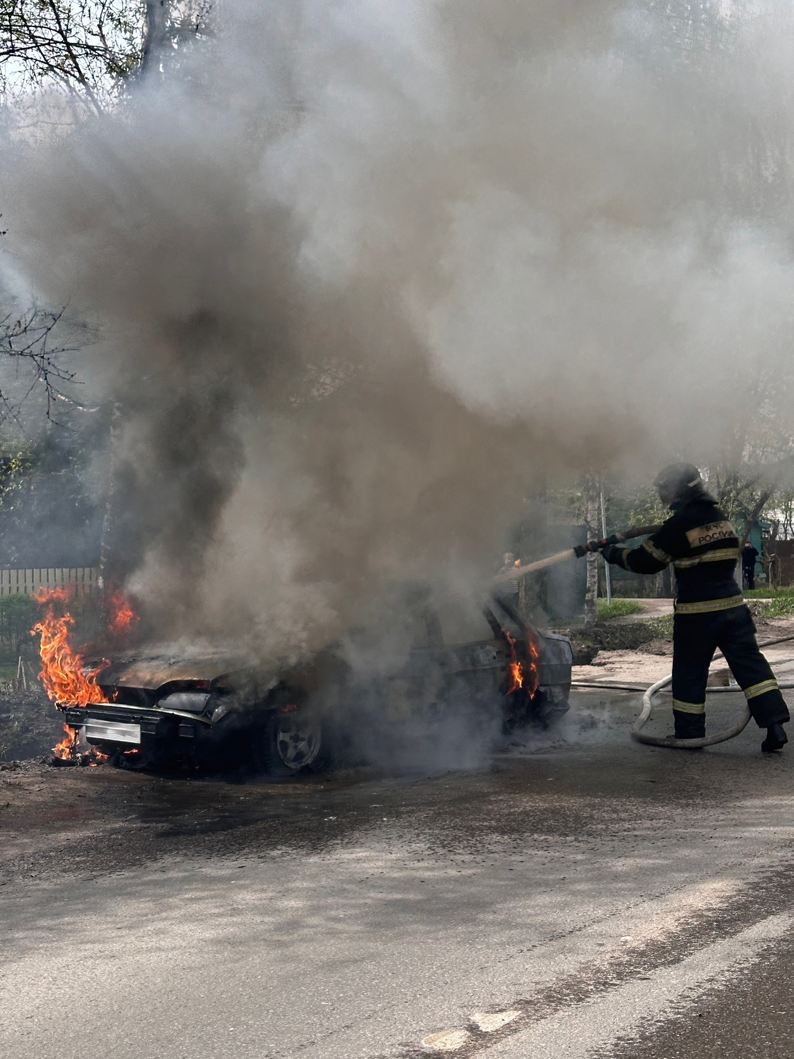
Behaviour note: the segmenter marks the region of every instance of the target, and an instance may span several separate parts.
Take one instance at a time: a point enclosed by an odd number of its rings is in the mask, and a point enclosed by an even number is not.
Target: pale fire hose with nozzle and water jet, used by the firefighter
[[[548,567],[555,567],[559,562],[566,562],[570,559],[580,558],[587,555],[589,552],[600,552],[601,549],[610,544],[620,544],[625,540],[631,540],[634,537],[646,537],[649,534],[655,533],[658,530],[657,525],[652,526],[634,526],[631,530],[625,530],[622,533],[613,534],[611,537],[604,537],[602,540],[592,540],[587,544],[577,544],[575,548],[570,548],[564,552],[557,552],[555,555],[549,555],[545,559],[538,559],[536,562],[528,562],[526,566],[516,567],[513,570],[507,571],[503,574],[498,575],[493,578],[494,586],[511,584],[516,581],[517,577],[523,577],[525,574],[535,573],[539,570],[545,570]],[[794,640],[794,635],[790,636],[778,636],[776,640],[768,640],[764,643],[759,644],[759,647],[771,647],[773,644],[782,644],[791,640]],[[718,651],[715,658],[722,658],[722,652]],[[672,683],[672,674],[667,677],[663,677],[662,680],[657,680],[655,684],[651,684],[650,687],[646,688],[643,695],[643,710],[631,726],[631,737],[636,742],[644,742],[650,747],[670,747],[674,750],[697,750],[700,747],[714,747],[718,742],[725,742],[727,739],[733,739],[740,732],[743,732],[747,726],[747,722],[751,718],[750,708],[745,707],[744,713],[739,721],[733,725],[733,728],[725,729],[724,732],[718,732],[716,735],[705,736],[702,739],[676,739],[674,736],[655,736],[647,735],[642,732],[643,725],[646,723],[651,715],[651,710],[653,708],[654,696],[668,687]],[[603,687],[615,690],[627,690],[627,692],[638,692],[642,688],[631,687],[625,683],[608,683],[608,682],[592,682],[588,681],[572,681],[572,687]],[[778,687],[782,689],[794,688],[794,681],[788,681],[782,684],[778,684]],[[725,692],[737,692],[740,690],[738,687],[710,687],[707,689],[709,693],[725,693]]]

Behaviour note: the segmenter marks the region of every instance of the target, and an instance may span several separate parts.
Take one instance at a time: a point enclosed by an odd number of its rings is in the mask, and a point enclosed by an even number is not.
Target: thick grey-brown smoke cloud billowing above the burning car
[[[482,575],[534,484],[726,444],[788,356],[794,38],[689,6],[228,3],[16,147],[14,251],[104,327],[118,548],[172,627],[318,642]]]

